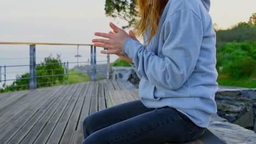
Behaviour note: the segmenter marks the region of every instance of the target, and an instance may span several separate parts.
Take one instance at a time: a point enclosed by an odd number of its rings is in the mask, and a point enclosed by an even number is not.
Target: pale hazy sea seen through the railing
[[[106,64],[107,55],[100,53],[102,48],[96,48],[97,64]],[[56,46],[56,45],[36,45],[36,63],[44,62],[45,57],[57,57],[60,55],[61,62],[68,62],[69,69],[75,65],[90,65],[90,46]],[[80,55],[81,57],[75,57]],[[114,62],[118,56],[110,55],[110,62]],[[78,62],[78,63],[77,63]],[[0,88],[3,87],[4,79],[6,85],[10,85],[17,75],[22,75],[30,71],[30,46],[29,45],[0,45]],[[19,65],[27,65],[19,67]],[[4,76],[4,66],[6,75]],[[17,66],[17,67],[10,67]],[[10,81],[8,81],[10,80]]]

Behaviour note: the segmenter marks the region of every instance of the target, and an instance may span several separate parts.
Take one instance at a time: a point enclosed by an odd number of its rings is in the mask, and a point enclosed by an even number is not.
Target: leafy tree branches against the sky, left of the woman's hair
[[[105,13],[127,21],[128,25],[123,28],[134,26],[139,17],[136,0],[106,0]]]

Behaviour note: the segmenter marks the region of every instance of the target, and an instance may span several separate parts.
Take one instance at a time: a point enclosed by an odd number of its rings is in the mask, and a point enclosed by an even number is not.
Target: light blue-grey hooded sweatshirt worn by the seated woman
[[[148,46],[132,38],[123,45],[141,78],[142,103],[173,107],[203,128],[217,112],[216,33],[209,9],[210,0],[170,0]]]

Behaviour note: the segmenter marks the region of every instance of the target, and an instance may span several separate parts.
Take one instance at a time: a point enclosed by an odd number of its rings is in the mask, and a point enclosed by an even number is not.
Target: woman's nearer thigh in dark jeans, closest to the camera
[[[188,141],[195,124],[185,122],[183,116],[167,107],[154,109],[98,130],[88,136],[83,144]]]

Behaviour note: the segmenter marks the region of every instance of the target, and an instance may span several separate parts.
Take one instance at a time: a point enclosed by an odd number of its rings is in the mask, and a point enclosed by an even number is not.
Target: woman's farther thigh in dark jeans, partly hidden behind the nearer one
[[[84,139],[97,130],[153,110],[135,100],[98,111],[84,119]]]

